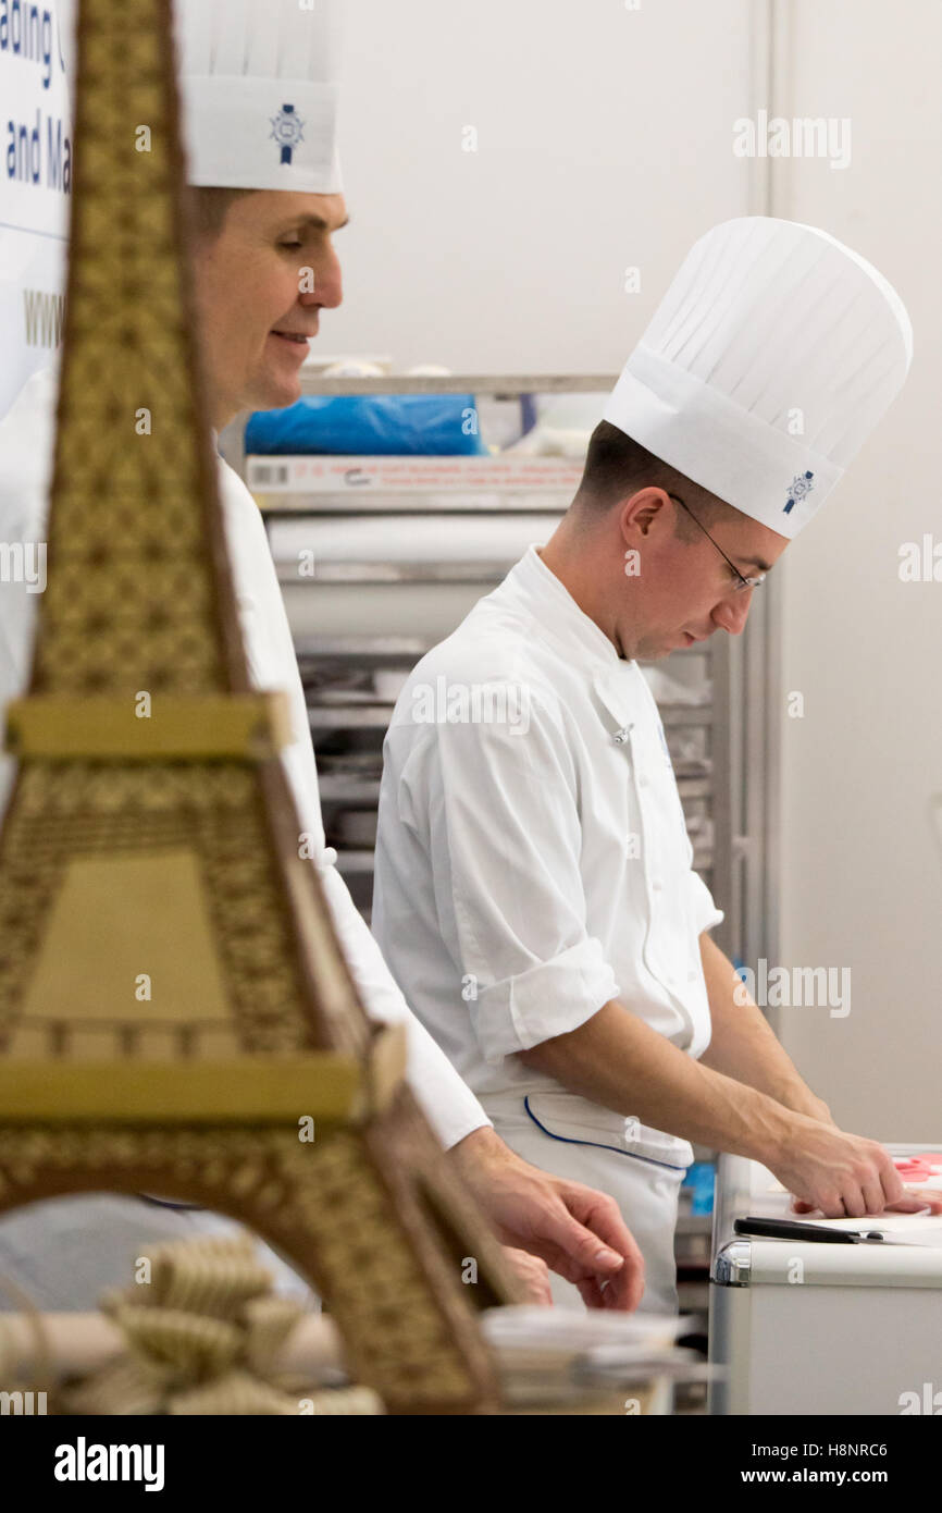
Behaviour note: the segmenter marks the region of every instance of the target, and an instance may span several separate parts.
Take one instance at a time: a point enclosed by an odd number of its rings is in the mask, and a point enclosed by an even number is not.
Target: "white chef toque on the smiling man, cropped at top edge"
[[[339,194],[331,0],[177,0],[187,180]]]

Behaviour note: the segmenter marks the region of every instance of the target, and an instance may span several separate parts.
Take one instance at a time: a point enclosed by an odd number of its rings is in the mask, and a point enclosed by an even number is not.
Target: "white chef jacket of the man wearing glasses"
[[[691,864],[638,664],[618,658],[531,546],[422,658],[396,704],[372,927],[508,1144],[615,1197],[626,1192],[615,1168],[641,1162],[652,1180],[676,1176],[661,1215],[676,1209],[689,1144],[578,1097],[514,1053],[578,1029],[611,999],[688,1055],[703,1053],[699,937],[723,912]],[[543,1156],[519,1138],[532,1127]],[[612,1171],[593,1154],[562,1173],[552,1141],[611,1150]],[[623,1210],[638,1235],[637,1177]],[[652,1215],[653,1230],[659,1223]],[[671,1288],[665,1280],[665,1298]]]

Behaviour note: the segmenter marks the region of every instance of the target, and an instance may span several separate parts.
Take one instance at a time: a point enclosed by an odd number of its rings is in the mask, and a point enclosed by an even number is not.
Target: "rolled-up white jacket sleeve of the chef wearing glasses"
[[[507,691],[508,707],[519,691]],[[497,701],[499,702],[499,701]],[[401,816],[423,831],[438,927],[490,1064],[578,1029],[618,993],[587,930],[575,775],[558,707],[526,728],[431,725],[402,773]]]

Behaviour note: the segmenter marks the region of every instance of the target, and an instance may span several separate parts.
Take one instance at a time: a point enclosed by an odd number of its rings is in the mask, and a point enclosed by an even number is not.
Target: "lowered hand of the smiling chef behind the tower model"
[[[644,1260],[614,1198],[538,1171],[488,1126],[448,1154],[505,1244],[575,1283],[590,1309],[638,1307]]]

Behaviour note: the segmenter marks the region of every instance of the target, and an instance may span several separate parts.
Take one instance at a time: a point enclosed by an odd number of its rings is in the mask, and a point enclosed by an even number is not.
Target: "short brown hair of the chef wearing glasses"
[[[655,452],[649,452],[646,446],[641,446],[641,442],[627,436],[617,425],[599,421],[590,437],[585,469],[573,507],[593,511],[609,510],[620,499],[637,493],[638,489],[649,487],[677,495],[696,510],[697,519],[703,525],[739,513],[724,499],[700,487],[693,478],[677,472]],[[680,540],[694,540],[699,534],[697,525],[685,510],[677,511],[676,530]]]

